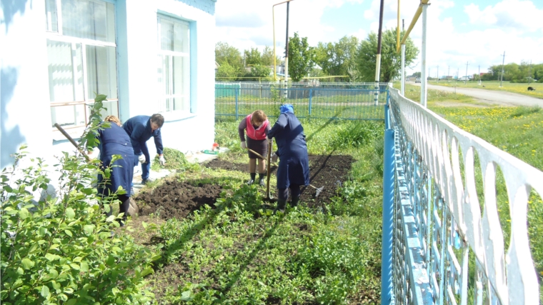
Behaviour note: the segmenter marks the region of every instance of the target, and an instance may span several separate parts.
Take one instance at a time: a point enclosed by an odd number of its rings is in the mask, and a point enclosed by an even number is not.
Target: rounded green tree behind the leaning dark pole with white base
[[[404,34],[404,31],[402,32]],[[419,49],[410,38],[405,41],[405,65],[412,64],[417,58]],[[362,41],[357,51],[357,71],[360,81],[375,81],[377,62],[377,34],[372,32]],[[396,30],[385,30],[382,35],[381,75],[380,81],[389,82],[402,71],[402,54],[396,51]]]

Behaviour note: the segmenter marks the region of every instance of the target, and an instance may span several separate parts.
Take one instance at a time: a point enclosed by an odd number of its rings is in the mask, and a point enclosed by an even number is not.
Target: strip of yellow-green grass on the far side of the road
[[[502,87],[499,86],[499,81],[482,81],[479,85],[479,81],[429,81],[429,84],[448,87],[459,88],[477,88],[485,90],[505,91],[517,94],[524,94],[527,96],[537,97],[543,99],[543,83],[511,83],[509,81],[503,81]],[[484,86],[484,87],[483,87]],[[528,91],[528,87],[531,86],[535,91]],[[543,101],[542,101],[543,102]]]

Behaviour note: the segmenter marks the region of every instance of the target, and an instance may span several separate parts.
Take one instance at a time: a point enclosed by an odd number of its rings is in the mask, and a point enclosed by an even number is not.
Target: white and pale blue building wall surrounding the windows
[[[119,116],[157,112],[157,14],[191,21],[191,116],[164,115],[165,147],[210,149],[214,141],[214,0],[111,1],[116,6]],[[190,4],[190,5],[189,5]],[[196,6],[196,7],[195,7]],[[0,169],[28,144],[51,159],[74,151],[51,128],[44,1],[3,1],[0,6]],[[194,36],[195,35],[195,36]],[[151,156],[154,142],[148,143]]]

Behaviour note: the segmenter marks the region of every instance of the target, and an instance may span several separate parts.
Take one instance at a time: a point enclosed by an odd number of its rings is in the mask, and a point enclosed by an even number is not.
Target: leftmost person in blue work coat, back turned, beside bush
[[[104,181],[104,176],[98,176],[98,191],[101,196],[114,194],[121,186],[126,194],[117,194],[119,199],[119,213],[124,213],[122,221],[119,224],[124,226],[128,208],[130,206],[130,193],[132,177],[134,176],[134,149],[130,143],[130,138],[126,131],[121,127],[121,121],[116,116],[107,116],[104,121],[109,123],[109,127],[99,129],[98,139],[100,149],[101,169],[104,170],[111,166],[109,180]],[[120,155],[122,159],[117,159],[111,164],[114,155]],[[107,216],[111,216],[111,209],[106,211]]]

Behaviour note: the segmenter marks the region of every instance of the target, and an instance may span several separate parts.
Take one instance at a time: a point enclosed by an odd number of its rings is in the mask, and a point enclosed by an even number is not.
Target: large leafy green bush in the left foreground
[[[96,146],[99,111],[104,95],[96,96],[91,124],[80,146]],[[21,150],[24,147],[21,148]],[[116,197],[98,198],[96,174],[104,181],[111,169],[86,162],[81,153],[64,153],[56,164],[58,192],[48,191],[51,179],[44,160],[15,154],[14,166],[0,174],[1,265],[3,304],[148,304],[154,294],[144,276],[159,256],[112,234],[116,216],[106,219]],[[58,183],[58,184],[57,184]],[[36,201],[34,194],[41,193]]]

